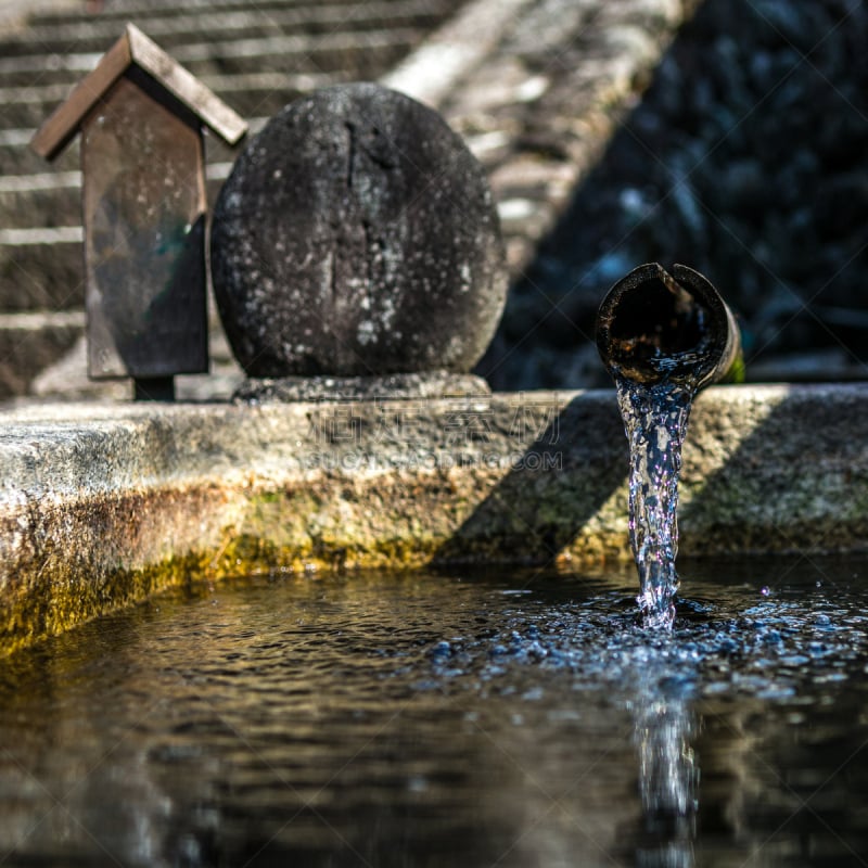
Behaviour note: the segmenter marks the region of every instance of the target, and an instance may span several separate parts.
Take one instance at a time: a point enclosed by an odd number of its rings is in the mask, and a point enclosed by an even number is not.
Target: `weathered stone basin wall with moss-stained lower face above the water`
[[[868,385],[714,387],[681,551],[855,551]],[[629,557],[613,392],[0,411],[0,653],[252,571]]]

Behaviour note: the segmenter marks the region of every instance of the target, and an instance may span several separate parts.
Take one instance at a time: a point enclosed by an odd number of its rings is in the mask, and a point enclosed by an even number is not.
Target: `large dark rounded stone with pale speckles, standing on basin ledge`
[[[220,193],[210,257],[252,376],[468,371],[506,296],[478,163],[436,112],[370,84],[268,123]]]

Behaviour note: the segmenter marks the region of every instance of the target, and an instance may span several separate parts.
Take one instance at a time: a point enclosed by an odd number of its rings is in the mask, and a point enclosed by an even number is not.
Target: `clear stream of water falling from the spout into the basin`
[[[637,602],[647,627],[672,628],[678,575],[678,477],[681,444],[697,388],[691,382],[616,378],[630,452],[629,536],[639,571]]]

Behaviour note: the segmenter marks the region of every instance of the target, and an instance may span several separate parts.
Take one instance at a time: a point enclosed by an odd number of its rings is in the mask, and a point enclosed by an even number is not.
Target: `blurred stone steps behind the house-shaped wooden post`
[[[0,399],[34,379],[84,330],[80,173],[74,142],[54,164],[36,128],[115,42],[127,21],[196,75],[256,132],[302,93],[376,79],[461,0],[108,0],[30,14],[0,31]],[[235,154],[206,137],[213,202]],[[219,331],[217,329],[217,331]],[[218,366],[228,352],[216,335]],[[72,383],[75,391],[80,379]],[[42,391],[54,391],[49,384]],[[122,387],[124,392],[127,386]]]

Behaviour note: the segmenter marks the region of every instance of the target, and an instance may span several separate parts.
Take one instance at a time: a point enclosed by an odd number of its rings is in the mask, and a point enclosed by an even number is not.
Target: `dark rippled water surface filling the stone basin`
[[[3,866],[864,866],[868,562],[252,578],[0,666]]]

